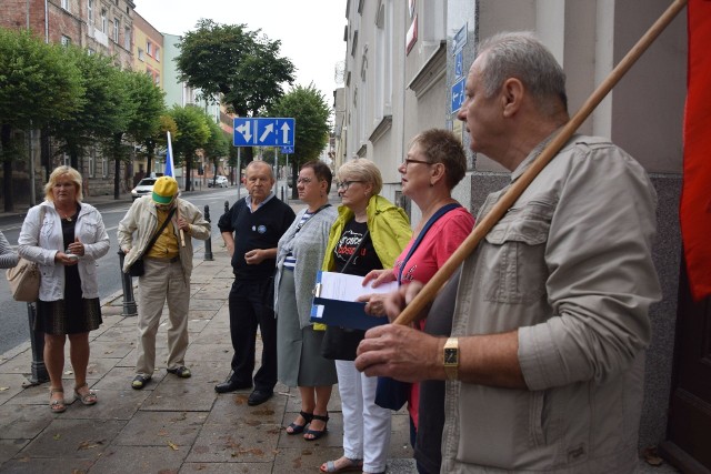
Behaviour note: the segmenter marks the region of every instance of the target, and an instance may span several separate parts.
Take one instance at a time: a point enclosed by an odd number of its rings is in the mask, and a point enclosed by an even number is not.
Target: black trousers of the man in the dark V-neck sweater
[[[277,384],[277,320],[274,279],[234,280],[230,290],[230,335],[232,337],[232,380],[249,384],[254,371],[257,327],[262,336],[262,364],[254,374],[254,389],[272,391]]]

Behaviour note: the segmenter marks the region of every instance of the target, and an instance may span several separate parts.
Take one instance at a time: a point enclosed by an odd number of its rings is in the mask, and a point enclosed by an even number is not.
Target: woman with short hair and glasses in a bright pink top
[[[414,137],[398,171],[402,175],[402,193],[417,204],[422,218],[393,269],[373,270],[363,279],[363,285],[378,286],[390,281],[401,284],[413,281],[427,283],[474,226],[474,218],[452,198],[452,190],[467,172],[464,149],[452,132],[431,129]],[[425,225],[428,222],[429,226]],[[419,244],[411,251],[418,238]],[[365,312],[384,316],[385,297],[362,296],[368,302]],[[415,322],[415,326],[430,334],[450,335],[452,312],[449,313],[450,317],[447,314],[432,313],[427,320]],[[423,410],[420,411],[419,406]],[[414,447],[418,472],[439,473],[444,427],[444,382],[412,384],[408,411],[410,442]]]

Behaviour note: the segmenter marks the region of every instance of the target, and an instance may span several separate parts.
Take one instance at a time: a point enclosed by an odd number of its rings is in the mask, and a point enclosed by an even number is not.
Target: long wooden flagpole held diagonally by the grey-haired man
[[[402,313],[393,321],[393,324],[410,324],[424,306],[434,300],[439,290],[469,256],[479,242],[489,233],[493,225],[507,213],[509,208],[525,191],[529,184],[538,177],[545,165],[555,157],[560,149],[570,140],[578,128],[588,119],[588,115],[602,102],[612,88],[624,77],[644,51],[654,42],[657,37],[671,23],[677,14],[687,4],[687,0],[675,0],[662,16],[650,27],[640,40],[625,54],[620,63],[610,72],[604,81],[592,92],[580,110],[568,121],[560,132],[551,140],[541,154],[531,165],[513,182],[511,188],[494,204],[491,211],[484,215],[472,230],[471,234],[450,255],[434,276],[422,288],[417,296],[404,307]]]

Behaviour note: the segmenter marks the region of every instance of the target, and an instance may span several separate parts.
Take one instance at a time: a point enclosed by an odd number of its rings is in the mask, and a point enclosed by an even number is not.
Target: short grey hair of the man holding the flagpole
[[[568,111],[563,68],[532,32],[494,34],[480,43],[481,54],[485,54],[480,72],[487,98],[495,94],[507,79],[515,78],[544,113],[560,112],[551,99],[560,101]]]

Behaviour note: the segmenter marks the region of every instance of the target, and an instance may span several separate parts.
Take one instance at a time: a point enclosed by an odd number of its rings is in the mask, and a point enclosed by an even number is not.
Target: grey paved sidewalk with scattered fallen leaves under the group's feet
[[[342,455],[338,390],[329,404],[329,432],[316,442],[283,430],[300,409],[299,391],[282,384],[274,396],[248,406],[250,391],[217,394],[230,371],[227,295],[232,269],[213,243],[214,261],[194,260],[190,300],[192,377],[166,373],[166,320],[157,339],[157,369],[141,391],[130,387],[136,363],[137,320],[121,316],[122,295],[103,303],[103,324],[90,333],[88,381],[99,403],[73,400],[69,344],[64,413],[49,410],[48,383],[22,387],[30,372],[26,344],[0,355],[0,472],[2,473],[283,473],[318,472]],[[167,315],[167,309],[164,315]],[[258,341],[257,354],[261,354]],[[259,356],[258,356],[259,362]],[[407,411],[393,414],[389,472],[413,472]]]

